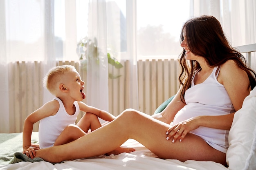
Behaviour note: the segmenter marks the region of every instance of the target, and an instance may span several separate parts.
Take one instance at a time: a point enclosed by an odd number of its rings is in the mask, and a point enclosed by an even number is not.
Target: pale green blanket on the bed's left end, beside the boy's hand
[[[38,132],[33,132],[32,143],[38,142]],[[0,133],[0,165],[6,165],[15,152],[22,152],[22,133]]]

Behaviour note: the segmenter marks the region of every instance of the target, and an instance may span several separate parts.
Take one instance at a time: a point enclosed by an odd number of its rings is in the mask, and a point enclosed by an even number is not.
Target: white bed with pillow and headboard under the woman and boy
[[[246,53],[247,61],[251,64],[250,52],[256,51],[256,44],[237,48],[240,52]],[[166,102],[157,110],[165,105]],[[38,132],[33,132],[31,139],[34,143],[38,142]],[[22,133],[0,134],[0,170],[256,170],[256,88],[245,98],[243,107],[234,116],[229,132],[228,167],[213,161],[181,162],[175,159],[159,159],[133,139],[128,139],[122,147],[135,148],[136,151],[119,155],[100,155],[56,164],[45,161],[34,163],[21,161],[9,164],[13,161],[13,154],[22,151]]]

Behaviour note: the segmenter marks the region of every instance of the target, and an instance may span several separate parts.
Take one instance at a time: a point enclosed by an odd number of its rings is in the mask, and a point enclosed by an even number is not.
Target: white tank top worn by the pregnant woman
[[[234,106],[225,87],[217,81],[218,67],[215,67],[209,77],[200,84],[194,84],[185,93],[186,106],[174,117],[173,124],[200,115],[227,115],[234,113]],[[196,71],[195,74],[198,73]],[[217,74],[216,74],[217,73]],[[229,130],[213,129],[200,126],[191,133],[200,136],[213,148],[226,153],[228,148]]]

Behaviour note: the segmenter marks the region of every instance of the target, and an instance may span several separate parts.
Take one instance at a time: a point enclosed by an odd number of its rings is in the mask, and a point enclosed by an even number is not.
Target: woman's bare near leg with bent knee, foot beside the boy
[[[188,134],[182,142],[166,140],[170,125],[136,110],[125,110],[114,121],[69,144],[36,150],[36,157],[52,163],[102,155],[135,139],[163,159],[215,161],[226,164],[226,154],[213,149],[200,137]]]

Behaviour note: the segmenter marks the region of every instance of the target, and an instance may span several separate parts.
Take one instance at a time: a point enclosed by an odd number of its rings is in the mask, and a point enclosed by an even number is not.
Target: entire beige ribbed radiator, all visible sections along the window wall
[[[79,62],[56,62],[56,66],[70,64],[76,67],[81,79],[86,82],[86,71]],[[109,112],[117,116],[129,108],[130,61],[122,61],[123,68],[109,68],[119,78],[109,78]],[[43,105],[43,62],[12,62],[8,65],[10,132],[22,132],[25,118]],[[152,115],[155,109],[177,92],[180,67],[177,60],[139,60],[138,101],[139,111]],[[86,83],[85,83],[86,92]],[[86,98],[86,99],[90,99]],[[86,103],[86,99],[84,102]],[[77,121],[83,116],[79,114]],[[38,131],[34,124],[33,131]]]

